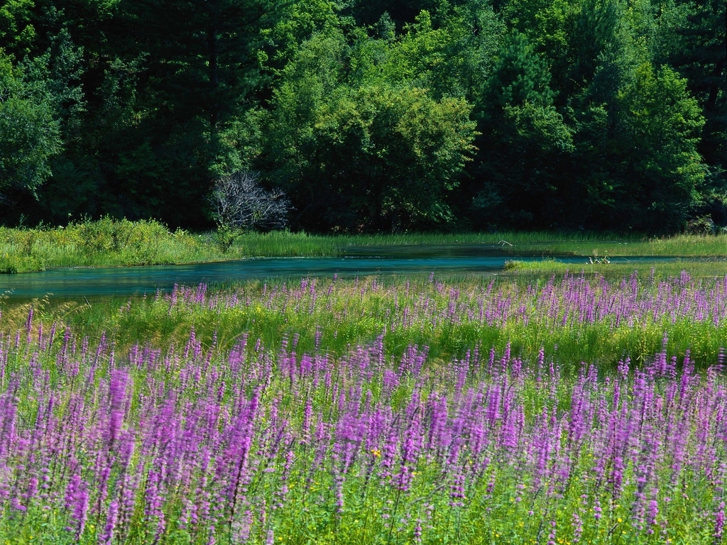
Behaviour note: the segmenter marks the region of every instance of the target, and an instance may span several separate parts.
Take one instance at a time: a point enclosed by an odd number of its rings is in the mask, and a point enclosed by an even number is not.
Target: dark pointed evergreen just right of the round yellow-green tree
[[[483,90],[474,165],[475,225],[558,225],[571,129],[553,107],[550,73],[513,33]]]

